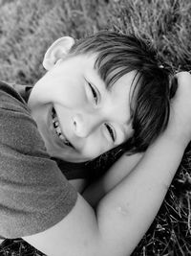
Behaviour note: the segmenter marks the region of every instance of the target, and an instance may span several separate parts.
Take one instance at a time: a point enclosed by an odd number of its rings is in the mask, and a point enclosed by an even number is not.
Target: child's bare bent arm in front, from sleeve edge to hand
[[[47,255],[130,255],[155,218],[191,137],[191,77],[180,73],[178,79],[169,126],[134,172],[100,200],[96,212],[78,196],[64,220],[26,241]]]

